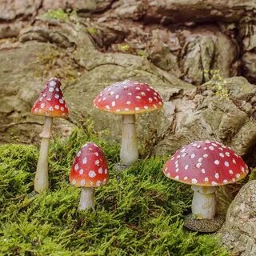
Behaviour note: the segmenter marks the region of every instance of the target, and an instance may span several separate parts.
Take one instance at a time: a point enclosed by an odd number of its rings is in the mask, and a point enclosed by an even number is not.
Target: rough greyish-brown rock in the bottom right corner
[[[219,231],[222,243],[234,255],[256,254],[256,181],[246,183],[238,192]]]

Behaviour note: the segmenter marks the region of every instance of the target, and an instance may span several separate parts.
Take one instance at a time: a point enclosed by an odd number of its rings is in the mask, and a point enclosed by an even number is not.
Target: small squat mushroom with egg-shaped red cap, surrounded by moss
[[[86,143],[75,156],[70,171],[70,183],[82,187],[78,210],[94,209],[94,187],[105,185],[108,179],[104,153],[94,142]]]

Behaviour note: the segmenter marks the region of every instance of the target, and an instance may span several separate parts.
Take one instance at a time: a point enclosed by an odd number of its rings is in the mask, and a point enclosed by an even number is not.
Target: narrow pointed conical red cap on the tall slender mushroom
[[[63,98],[61,86],[62,84],[58,78],[50,78],[46,82],[44,90],[34,102],[31,110],[32,114],[53,118],[67,118],[69,110]]]

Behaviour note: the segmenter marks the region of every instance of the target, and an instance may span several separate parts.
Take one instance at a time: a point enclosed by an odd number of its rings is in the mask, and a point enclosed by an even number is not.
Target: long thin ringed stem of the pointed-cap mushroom
[[[42,142],[38,158],[37,171],[35,173],[34,179],[34,190],[37,191],[38,193],[41,193],[43,190],[47,190],[49,187],[48,153],[52,123],[53,118],[46,117],[42,134],[40,134],[40,137],[42,137]]]

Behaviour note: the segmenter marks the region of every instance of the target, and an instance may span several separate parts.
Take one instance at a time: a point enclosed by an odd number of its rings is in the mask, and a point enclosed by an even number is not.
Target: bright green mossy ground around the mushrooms
[[[110,182],[96,190],[96,210],[78,212],[80,190],[68,182],[74,154],[87,141],[106,153]],[[229,255],[213,235],[186,231],[190,187],[162,174],[166,158],[147,158],[122,174],[118,146],[75,130],[50,148],[50,190],[35,194],[35,146],[0,146],[0,255]]]

